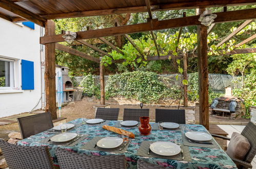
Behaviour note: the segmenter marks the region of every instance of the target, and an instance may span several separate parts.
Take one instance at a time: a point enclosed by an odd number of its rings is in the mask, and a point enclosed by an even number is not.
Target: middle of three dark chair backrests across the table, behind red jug
[[[140,121],[142,116],[149,116],[149,109],[124,109],[123,120]]]

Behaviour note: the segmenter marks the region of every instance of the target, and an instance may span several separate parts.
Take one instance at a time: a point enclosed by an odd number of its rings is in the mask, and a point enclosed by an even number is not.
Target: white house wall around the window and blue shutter
[[[0,18],[0,57],[16,59],[15,88],[0,89],[0,117],[31,111],[41,98],[40,27],[35,29]],[[34,90],[21,90],[21,59],[34,62]],[[13,92],[13,93],[10,93]],[[41,109],[39,101],[35,109]]]

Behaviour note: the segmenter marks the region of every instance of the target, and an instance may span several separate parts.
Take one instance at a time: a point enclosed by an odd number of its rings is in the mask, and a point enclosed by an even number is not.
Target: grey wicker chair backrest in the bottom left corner
[[[48,146],[22,146],[0,139],[0,147],[10,169],[53,168]]]

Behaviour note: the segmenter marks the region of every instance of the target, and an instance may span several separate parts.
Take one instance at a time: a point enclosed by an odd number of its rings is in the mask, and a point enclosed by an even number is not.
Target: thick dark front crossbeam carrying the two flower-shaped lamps
[[[231,22],[235,20],[246,20],[256,18],[256,9],[244,9],[237,11],[227,11],[215,13],[218,17],[215,18],[214,23]],[[199,15],[187,16],[182,18],[166,19],[166,20],[152,20],[152,22],[135,24],[135,25],[125,25],[119,27],[105,28],[105,29],[95,29],[89,31],[76,32],[77,40],[80,39],[90,39],[99,38],[106,36],[124,35],[137,32],[147,32],[153,30],[178,28],[185,26],[200,25],[198,21]],[[44,36],[40,38],[40,44],[47,43],[57,43],[65,41],[62,37],[64,34]]]

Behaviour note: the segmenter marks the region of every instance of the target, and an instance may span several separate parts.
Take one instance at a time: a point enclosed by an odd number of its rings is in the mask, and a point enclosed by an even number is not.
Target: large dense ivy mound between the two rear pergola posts
[[[170,90],[153,72],[126,72],[110,75],[106,85],[110,97],[134,98],[144,103],[155,103],[171,95]]]

